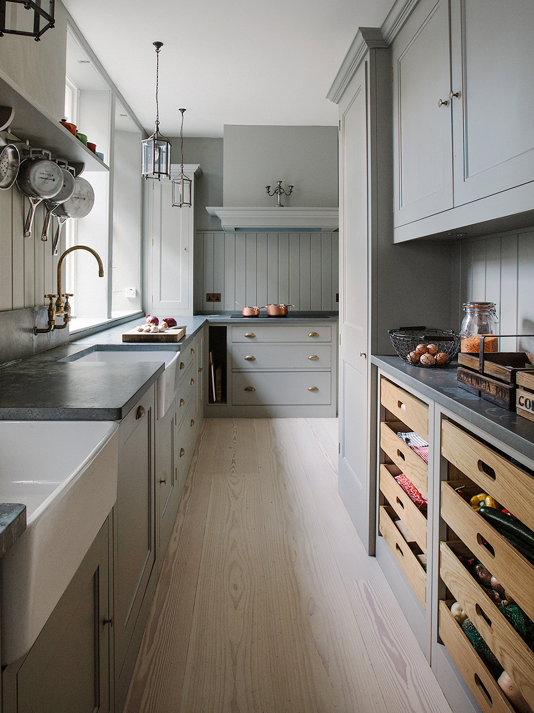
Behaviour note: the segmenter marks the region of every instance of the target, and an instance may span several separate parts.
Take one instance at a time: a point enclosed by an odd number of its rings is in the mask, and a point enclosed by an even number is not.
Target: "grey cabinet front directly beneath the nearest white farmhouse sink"
[[[110,518],[31,650],[2,672],[4,713],[111,709]]]

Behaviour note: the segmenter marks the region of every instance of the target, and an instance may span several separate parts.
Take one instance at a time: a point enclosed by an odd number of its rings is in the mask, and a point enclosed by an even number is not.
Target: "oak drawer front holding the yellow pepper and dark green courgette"
[[[447,482],[441,483],[441,517],[511,594],[521,609],[534,619],[533,565],[501,537],[482,515],[478,515]],[[484,545],[483,540],[486,540],[488,545]],[[511,674],[510,671],[508,673]]]

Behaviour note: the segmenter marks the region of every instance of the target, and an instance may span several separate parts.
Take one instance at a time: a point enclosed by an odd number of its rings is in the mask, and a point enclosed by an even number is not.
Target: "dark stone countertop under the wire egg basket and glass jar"
[[[439,369],[407,364],[399,356],[372,356],[372,364],[412,386],[420,394],[461,416],[473,426],[534,460],[534,421],[506,411],[491,401],[461,389],[456,380],[457,362]]]

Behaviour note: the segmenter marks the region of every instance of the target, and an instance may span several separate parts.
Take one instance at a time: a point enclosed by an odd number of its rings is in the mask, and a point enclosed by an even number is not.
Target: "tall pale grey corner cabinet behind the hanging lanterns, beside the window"
[[[180,166],[171,165],[171,175]],[[193,180],[191,207],[173,207],[172,180],[147,182],[147,311],[158,317],[193,314],[194,178],[198,164],[184,165]]]

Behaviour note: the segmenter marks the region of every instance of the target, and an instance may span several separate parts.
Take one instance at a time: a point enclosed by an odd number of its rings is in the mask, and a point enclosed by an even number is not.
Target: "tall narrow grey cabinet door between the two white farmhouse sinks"
[[[155,386],[122,419],[113,508],[115,710],[122,711],[155,591]]]

